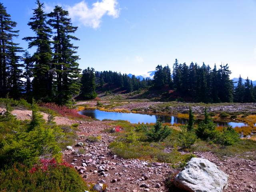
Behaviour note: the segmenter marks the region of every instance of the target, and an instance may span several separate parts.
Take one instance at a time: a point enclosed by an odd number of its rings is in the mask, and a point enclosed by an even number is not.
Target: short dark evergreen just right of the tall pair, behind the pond
[[[82,72],[81,78],[81,93],[80,95],[84,99],[93,99],[96,98],[97,94],[95,92],[96,84],[95,84],[95,73],[94,68],[84,69]]]

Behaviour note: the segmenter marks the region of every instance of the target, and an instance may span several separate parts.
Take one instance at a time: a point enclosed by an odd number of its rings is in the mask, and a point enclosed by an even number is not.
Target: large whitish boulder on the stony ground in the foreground
[[[189,192],[223,192],[228,187],[228,175],[207,159],[191,158],[174,184]]]

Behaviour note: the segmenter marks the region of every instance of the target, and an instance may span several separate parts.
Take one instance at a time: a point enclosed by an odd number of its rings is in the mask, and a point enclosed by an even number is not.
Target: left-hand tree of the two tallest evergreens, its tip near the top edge
[[[33,9],[33,17],[30,18],[28,26],[35,32],[34,37],[25,37],[28,48],[36,47],[32,56],[34,64],[33,95],[36,100],[50,100],[52,98],[52,50],[51,50],[51,28],[47,25],[47,14],[44,12],[44,4],[36,0],[37,8]]]

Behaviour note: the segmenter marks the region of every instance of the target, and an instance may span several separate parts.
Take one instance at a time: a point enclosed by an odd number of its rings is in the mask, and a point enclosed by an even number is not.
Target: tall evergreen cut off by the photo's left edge
[[[7,94],[8,78],[8,58],[13,49],[13,37],[18,36],[18,30],[14,30],[17,23],[11,20],[10,14],[6,12],[6,7],[0,3],[0,96],[5,97]],[[15,50],[13,50],[15,52]],[[17,50],[16,50],[17,51]],[[16,54],[16,52],[15,52]]]

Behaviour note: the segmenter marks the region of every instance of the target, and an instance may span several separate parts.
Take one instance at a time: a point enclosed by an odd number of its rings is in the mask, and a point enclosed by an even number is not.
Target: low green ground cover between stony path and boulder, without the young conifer
[[[113,124],[121,126],[122,131],[115,133],[117,138],[109,147],[114,154],[120,157],[138,158],[150,162],[166,162],[174,167],[184,166],[190,158],[194,157],[193,154],[181,154],[175,147],[170,153],[164,152],[166,145],[175,146],[172,142],[172,136],[177,134],[176,130],[163,142],[146,142],[147,138],[142,125],[130,124],[126,121],[116,121]]]

